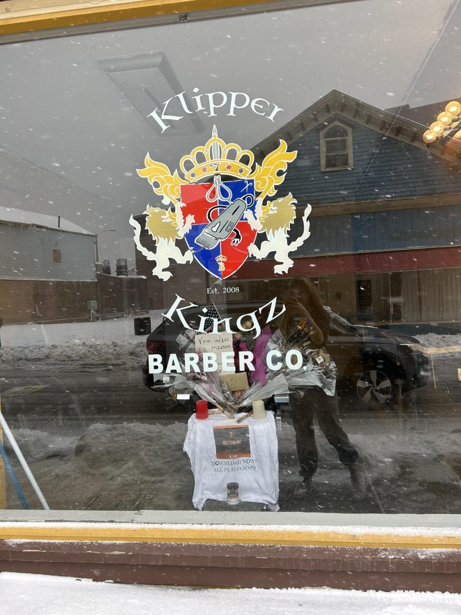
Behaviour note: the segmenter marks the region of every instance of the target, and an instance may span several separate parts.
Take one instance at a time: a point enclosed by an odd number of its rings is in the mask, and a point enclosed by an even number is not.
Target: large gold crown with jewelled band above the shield
[[[246,163],[242,162],[245,157],[248,158]],[[216,126],[213,126],[211,139],[205,145],[192,149],[188,156],[183,156],[179,165],[186,180],[195,182],[216,173],[248,177],[253,162],[253,152],[242,149],[237,143],[226,143],[218,137]]]

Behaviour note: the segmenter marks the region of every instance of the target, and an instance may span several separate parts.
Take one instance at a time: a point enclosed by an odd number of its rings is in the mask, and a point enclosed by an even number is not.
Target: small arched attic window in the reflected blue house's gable
[[[352,129],[333,122],[320,132],[320,170],[352,169]]]

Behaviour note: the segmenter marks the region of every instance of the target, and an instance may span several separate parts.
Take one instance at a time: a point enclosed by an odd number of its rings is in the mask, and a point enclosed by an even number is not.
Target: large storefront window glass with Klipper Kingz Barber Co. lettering
[[[459,510],[460,19],[2,45],[2,508]]]

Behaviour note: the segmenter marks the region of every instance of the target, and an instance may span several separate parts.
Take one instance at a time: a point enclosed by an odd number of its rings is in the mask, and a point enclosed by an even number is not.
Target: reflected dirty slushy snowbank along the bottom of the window
[[[284,423],[277,434],[283,510],[458,512],[458,419],[420,418],[418,424],[411,421],[399,426],[390,416],[369,416],[366,421],[345,419],[344,426],[373,485],[367,498],[358,503],[350,500],[349,473],[319,433],[321,462],[314,490],[309,494],[301,491],[301,499],[294,496],[301,484],[295,434],[293,426]],[[53,435],[45,429],[14,430],[52,509],[192,510],[194,478],[183,453],[186,417],[170,424],[93,423],[85,427],[76,422],[61,430]],[[6,447],[14,459],[7,442]],[[39,507],[17,470],[28,503]],[[20,507],[11,485],[8,507]]]

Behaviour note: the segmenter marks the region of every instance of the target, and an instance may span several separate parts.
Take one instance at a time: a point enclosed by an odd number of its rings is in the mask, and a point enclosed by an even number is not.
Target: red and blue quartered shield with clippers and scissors
[[[195,258],[212,276],[232,276],[248,258],[248,246],[256,231],[243,217],[254,211],[254,180],[221,181],[181,186],[184,220],[194,216],[191,230],[184,235]]]

